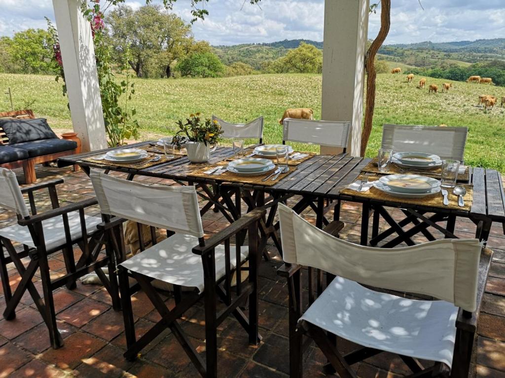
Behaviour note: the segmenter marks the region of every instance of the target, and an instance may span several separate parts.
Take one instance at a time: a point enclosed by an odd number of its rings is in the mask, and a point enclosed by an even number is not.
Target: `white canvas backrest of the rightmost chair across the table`
[[[427,152],[463,161],[468,128],[384,124],[382,148],[395,152]]]

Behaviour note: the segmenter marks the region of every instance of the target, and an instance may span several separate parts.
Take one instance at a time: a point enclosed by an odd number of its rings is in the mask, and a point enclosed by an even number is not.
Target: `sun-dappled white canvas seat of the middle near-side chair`
[[[176,233],[155,244],[120,265],[130,271],[157,280],[204,290],[204,268],[201,257],[191,251],[198,245],[198,238]],[[241,261],[247,258],[248,247],[240,248]],[[226,273],[224,245],[215,248],[216,280]],[[235,268],[235,246],[230,247],[230,265]]]

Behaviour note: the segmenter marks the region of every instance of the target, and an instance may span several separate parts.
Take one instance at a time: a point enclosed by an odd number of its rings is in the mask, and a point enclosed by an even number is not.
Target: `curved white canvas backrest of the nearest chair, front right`
[[[319,268],[378,288],[434,296],[475,311],[482,249],[477,239],[367,247],[331,236],[282,204],[279,219],[286,263]]]

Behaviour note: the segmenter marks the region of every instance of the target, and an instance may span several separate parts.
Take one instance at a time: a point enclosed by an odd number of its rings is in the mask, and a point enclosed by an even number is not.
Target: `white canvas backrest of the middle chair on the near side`
[[[145,185],[92,170],[103,214],[196,237],[204,236],[194,186]]]

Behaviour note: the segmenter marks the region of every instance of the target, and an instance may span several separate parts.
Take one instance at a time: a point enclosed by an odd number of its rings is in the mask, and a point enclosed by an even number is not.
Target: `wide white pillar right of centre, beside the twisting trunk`
[[[351,121],[347,152],[360,156],[369,0],[325,0],[321,118]],[[321,154],[339,153],[321,146]]]

